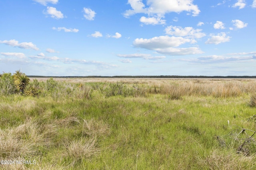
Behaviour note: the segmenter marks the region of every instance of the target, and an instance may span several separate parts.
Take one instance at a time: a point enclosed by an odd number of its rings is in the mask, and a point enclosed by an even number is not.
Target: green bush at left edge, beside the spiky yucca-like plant
[[[11,73],[3,73],[0,76],[0,95],[14,94],[16,87]]]

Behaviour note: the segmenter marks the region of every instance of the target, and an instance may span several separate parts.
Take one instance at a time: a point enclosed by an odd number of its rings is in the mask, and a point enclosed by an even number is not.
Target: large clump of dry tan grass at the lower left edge
[[[0,158],[25,158],[40,153],[40,147],[52,145],[55,134],[52,125],[39,125],[30,120],[18,127],[0,129]]]

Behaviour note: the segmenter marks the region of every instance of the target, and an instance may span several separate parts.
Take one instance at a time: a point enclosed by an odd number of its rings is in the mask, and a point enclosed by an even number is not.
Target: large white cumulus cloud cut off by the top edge
[[[165,24],[164,15],[170,12],[180,13],[183,11],[192,13],[193,16],[197,16],[200,10],[197,5],[193,4],[193,0],[147,0],[148,7],[142,2],[142,0],[128,0],[130,4],[130,10],[124,12],[124,17],[129,18],[134,14],[147,14],[148,17],[140,18],[140,21],[145,24]],[[153,17],[152,17],[153,16]]]

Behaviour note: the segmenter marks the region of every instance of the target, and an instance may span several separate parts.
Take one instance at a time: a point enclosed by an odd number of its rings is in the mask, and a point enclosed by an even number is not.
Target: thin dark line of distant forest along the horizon
[[[256,76],[28,76],[30,78],[256,78]]]

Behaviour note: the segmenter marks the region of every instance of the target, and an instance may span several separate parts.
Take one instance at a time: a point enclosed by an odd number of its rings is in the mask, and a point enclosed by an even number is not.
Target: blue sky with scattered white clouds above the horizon
[[[0,0],[0,73],[255,76],[256,0]]]

